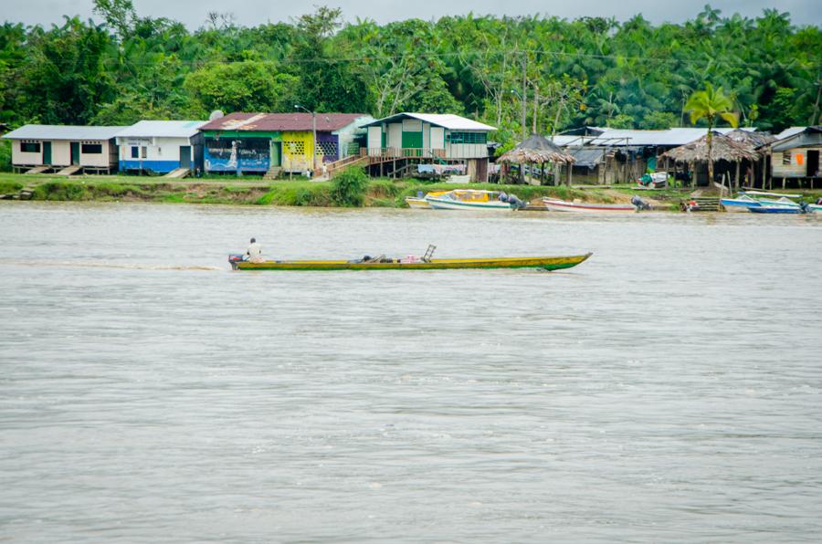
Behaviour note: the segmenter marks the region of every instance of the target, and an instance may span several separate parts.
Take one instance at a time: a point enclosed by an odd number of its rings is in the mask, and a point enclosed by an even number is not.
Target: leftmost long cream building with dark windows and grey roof
[[[77,172],[117,170],[115,135],[125,127],[24,125],[3,138],[12,141],[12,166],[17,172],[40,172],[73,166]]]

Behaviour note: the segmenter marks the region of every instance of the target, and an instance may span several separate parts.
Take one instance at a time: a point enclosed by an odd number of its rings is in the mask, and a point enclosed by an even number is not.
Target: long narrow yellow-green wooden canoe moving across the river
[[[231,262],[236,270],[441,270],[453,268],[543,268],[575,267],[592,253],[577,256],[507,256],[486,258],[431,259],[428,262],[364,263],[358,261],[249,261]]]

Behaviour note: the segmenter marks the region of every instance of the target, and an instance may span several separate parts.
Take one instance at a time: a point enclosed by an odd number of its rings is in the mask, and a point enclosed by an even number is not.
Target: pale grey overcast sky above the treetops
[[[497,16],[551,15],[567,18],[615,16],[625,20],[641,13],[653,23],[679,23],[702,11],[708,0],[132,0],[140,16],[168,17],[189,28],[202,26],[209,11],[231,13],[237,24],[256,26],[267,21],[289,21],[313,10],[313,5],[341,7],[346,20],[372,18],[379,23],[417,17],[475,14]],[[795,25],[822,25],[822,0],[712,0],[722,15],[740,13],[758,16],[766,7],[791,14]],[[63,15],[92,16],[92,0],[0,0],[0,21],[49,26],[62,22]]]

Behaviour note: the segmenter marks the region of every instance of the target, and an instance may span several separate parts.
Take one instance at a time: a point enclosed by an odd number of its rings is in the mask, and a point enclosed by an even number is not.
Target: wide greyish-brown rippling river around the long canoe
[[[0,539],[822,534],[820,217],[0,203],[0,246]]]

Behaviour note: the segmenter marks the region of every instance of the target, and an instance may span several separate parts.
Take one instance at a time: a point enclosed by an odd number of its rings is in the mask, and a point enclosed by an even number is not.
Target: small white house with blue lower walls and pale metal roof
[[[121,172],[203,169],[205,120],[141,120],[117,133]]]

